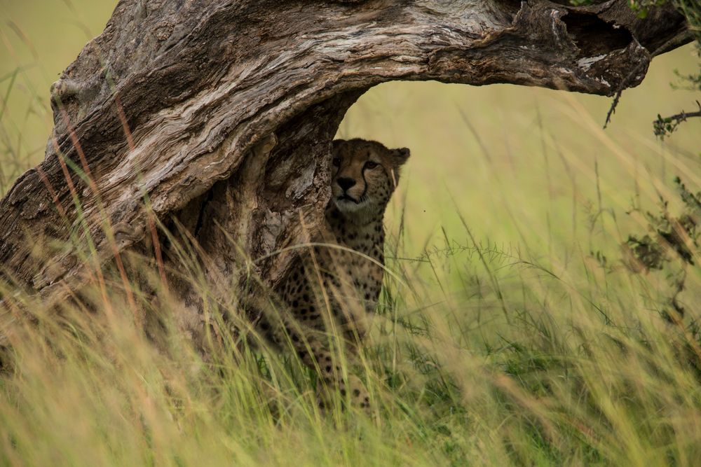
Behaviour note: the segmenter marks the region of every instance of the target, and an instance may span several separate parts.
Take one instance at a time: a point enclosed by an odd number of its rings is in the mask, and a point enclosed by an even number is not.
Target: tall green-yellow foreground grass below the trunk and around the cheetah
[[[467,226],[463,233],[473,238]],[[662,318],[651,278],[589,254],[553,272],[542,259],[447,236],[411,260],[390,250],[395,276],[365,352],[371,417],[340,401],[318,410],[315,376],[293,352],[252,349],[220,332],[203,360],[177,332],[177,304],[139,293],[135,281],[139,309],[158,321],[145,334],[117,272],[104,272],[109,302],[88,289],[48,310],[15,295],[12,367],[0,380],[2,463],[698,459],[700,375],[687,351],[697,343]],[[695,273],[690,309],[701,296]],[[208,311],[214,321],[236,312]]]

